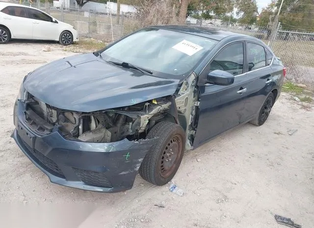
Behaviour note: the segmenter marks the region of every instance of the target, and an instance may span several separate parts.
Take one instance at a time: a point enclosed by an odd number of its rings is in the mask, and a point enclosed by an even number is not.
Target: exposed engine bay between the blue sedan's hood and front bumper
[[[114,142],[145,137],[156,121],[169,115],[170,99],[164,97],[124,108],[80,113],[54,108],[30,95],[28,106],[35,114],[56,126],[66,138],[85,142]],[[34,125],[36,119],[30,115],[27,117],[28,123]]]

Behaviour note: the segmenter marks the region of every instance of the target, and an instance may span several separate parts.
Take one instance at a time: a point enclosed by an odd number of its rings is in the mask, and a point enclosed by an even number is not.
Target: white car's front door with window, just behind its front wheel
[[[59,36],[59,24],[52,17],[37,9],[27,8],[27,14],[33,23],[33,39],[55,40]]]

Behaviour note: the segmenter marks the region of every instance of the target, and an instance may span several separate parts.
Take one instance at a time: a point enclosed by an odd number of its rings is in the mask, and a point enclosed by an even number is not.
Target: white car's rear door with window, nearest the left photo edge
[[[26,7],[7,6],[1,10],[3,23],[10,31],[12,38],[32,39],[32,22],[27,18]]]

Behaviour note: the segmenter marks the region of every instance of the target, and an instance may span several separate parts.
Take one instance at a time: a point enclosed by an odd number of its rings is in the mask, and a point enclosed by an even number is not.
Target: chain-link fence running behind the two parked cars
[[[18,3],[18,2],[17,2]],[[29,5],[29,3],[26,3]],[[52,17],[73,25],[79,39],[94,38],[111,42],[140,28],[139,20],[131,14],[116,15],[94,10],[54,7],[51,3],[35,2],[38,8]],[[269,45],[287,67],[287,78],[295,82],[314,83],[314,33],[284,31],[280,23],[268,26],[229,23],[222,20],[186,19],[187,25],[198,25],[232,31],[261,39]]]

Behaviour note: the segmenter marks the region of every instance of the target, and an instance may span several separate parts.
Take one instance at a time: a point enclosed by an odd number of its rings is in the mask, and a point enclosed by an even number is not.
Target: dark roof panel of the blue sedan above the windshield
[[[223,31],[216,28],[204,27],[204,26],[195,26],[195,25],[157,25],[151,26],[153,28],[166,29],[171,31],[188,33],[191,35],[201,36],[205,38],[209,38],[216,41],[221,41],[228,37],[234,37],[237,39],[249,39],[261,42],[259,39],[255,37],[251,37],[248,35],[243,35],[235,32]]]

